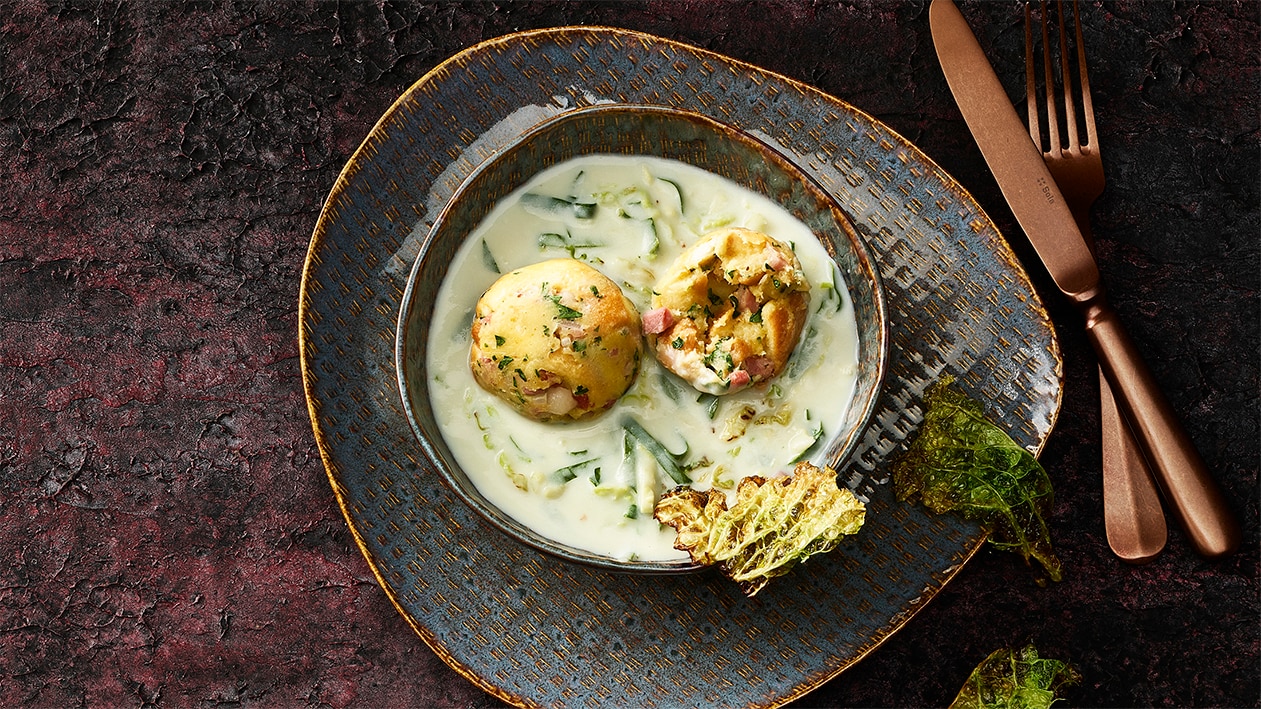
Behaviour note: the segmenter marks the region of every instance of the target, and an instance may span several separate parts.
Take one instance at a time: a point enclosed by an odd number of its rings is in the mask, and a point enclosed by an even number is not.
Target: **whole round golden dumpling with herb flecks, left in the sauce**
[[[639,313],[615,283],[574,259],[501,276],[478,300],[472,334],[477,382],[540,421],[607,410],[639,370]]]

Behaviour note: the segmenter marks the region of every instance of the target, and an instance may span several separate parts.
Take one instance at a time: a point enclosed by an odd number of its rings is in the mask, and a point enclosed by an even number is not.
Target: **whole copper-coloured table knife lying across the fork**
[[[1200,554],[1233,551],[1238,522],[1108,305],[1095,257],[972,28],[952,0],[933,0],[928,23],[960,112],[1047,272],[1082,313],[1105,377],[1165,500]]]

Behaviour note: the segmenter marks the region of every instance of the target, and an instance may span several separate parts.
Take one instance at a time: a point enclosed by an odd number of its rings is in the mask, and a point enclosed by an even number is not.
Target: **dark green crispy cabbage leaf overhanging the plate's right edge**
[[[952,384],[953,377],[943,377],[929,389],[919,434],[893,463],[894,493],[980,524],[991,544],[1019,553],[1025,563],[1037,559],[1058,582],[1062,568],[1047,527],[1053,501],[1047,471]],[[1045,583],[1040,574],[1037,580]]]

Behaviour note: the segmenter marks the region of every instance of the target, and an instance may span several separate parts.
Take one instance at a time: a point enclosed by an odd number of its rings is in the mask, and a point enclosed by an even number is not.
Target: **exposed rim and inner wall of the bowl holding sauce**
[[[556,116],[525,132],[480,165],[455,192],[424,241],[398,315],[396,367],[407,419],[425,457],[455,495],[511,537],[566,561],[620,571],[681,573],[682,561],[627,561],[552,541],[488,501],[456,463],[430,405],[426,348],[434,302],[453,256],[496,203],[535,174],[591,154],[678,160],[760,193],[807,225],[836,262],[859,328],[859,375],[849,413],[821,459],[841,469],[875,409],[888,352],[888,318],[879,275],[865,242],[836,202],[794,164],[755,138],[699,114],[653,106],[607,105]]]

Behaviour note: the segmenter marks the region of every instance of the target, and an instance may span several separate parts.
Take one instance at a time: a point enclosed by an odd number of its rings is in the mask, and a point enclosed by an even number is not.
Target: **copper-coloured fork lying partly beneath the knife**
[[[1034,61],[1033,16],[1025,5],[1025,98],[1029,111],[1029,136],[1043,151],[1043,160],[1064,196],[1086,242],[1095,249],[1091,235],[1091,206],[1103,193],[1103,160],[1095,131],[1095,106],[1091,101],[1090,77],[1086,71],[1086,47],[1077,0],[1073,0],[1073,39],[1077,48],[1077,87],[1081,114],[1074,98],[1074,74],[1071,71],[1068,34],[1064,32],[1064,3],[1058,0],[1059,19],[1059,81],[1053,71],[1052,44],[1048,30],[1047,1],[1042,3],[1042,56],[1045,111],[1039,110],[1038,76]],[[1057,92],[1057,83],[1059,91]],[[1057,96],[1058,93],[1058,96]],[[1063,114],[1061,114],[1063,111]],[[1039,117],[1047,119],[1047,140],[1039,129]],[[1059,119],[1064,121],[1067,140],[1061,144]],[[1086,141],[1078,134],[1078,117],[1086,129]],[[1125,418],[1112,399],[1112,389],[1100,371],[1100,406],[1103,438],[1103,527],[1108,546],[1121,559],[1140,564],[1150,561],[1165,546],[1168,530],[1160,496],[1148,464],[1130,434]]]

